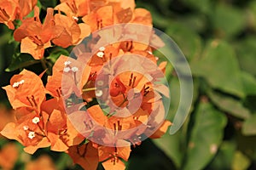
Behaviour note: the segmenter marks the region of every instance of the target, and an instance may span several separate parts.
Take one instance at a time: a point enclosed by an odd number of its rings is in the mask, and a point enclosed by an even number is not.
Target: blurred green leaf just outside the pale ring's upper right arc
[[[173,38],[188,59],[201,54],[201,37],[191,29],[181,24],[172,23],[167,28],[166,34]]]

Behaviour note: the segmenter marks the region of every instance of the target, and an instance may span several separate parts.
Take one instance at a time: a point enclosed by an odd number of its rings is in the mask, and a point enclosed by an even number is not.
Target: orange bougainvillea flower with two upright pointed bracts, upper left
[[[53,8],[47,9],[47,15],[42,25],[39,20],[39,8],[34,8],[34,17],[23,20],[22,25],[15,30],[15,40],[21,42],[20,52],[32,54],[34,59],[44,57],[44,48],[51,46],[54,36]]]

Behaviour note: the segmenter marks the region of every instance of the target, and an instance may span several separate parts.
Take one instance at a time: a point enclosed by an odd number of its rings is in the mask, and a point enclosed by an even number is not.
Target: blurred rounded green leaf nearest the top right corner
[[[212,12],[211,21],[218,37],[236,36],[246,26],[241,9],[219,3]]]

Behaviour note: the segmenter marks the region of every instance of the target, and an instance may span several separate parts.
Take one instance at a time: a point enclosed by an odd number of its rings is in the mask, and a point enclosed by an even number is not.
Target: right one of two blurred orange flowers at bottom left
[[[38,159],[29,161],[25,166],[26,170],[55,170],[54,161],[47,155],[39,156]]]

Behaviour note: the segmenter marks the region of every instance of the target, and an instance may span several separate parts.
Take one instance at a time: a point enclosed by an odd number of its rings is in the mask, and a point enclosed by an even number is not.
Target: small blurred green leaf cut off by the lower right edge
[[[241,133],[244,135],[256,134],[256,114],[253,114],[243,123]]]

